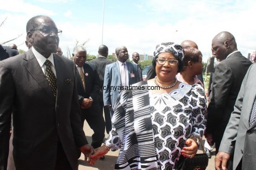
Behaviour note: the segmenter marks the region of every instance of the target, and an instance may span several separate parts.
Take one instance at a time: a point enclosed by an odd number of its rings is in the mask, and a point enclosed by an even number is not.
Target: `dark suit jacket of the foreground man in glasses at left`
[[[0,62],[0,166],[13,114],[17,170],[54,170],[57,141],[77,169],[77,148],[88,144],[80,120],[74,63],[53,55],[57,98],[32,52]]]

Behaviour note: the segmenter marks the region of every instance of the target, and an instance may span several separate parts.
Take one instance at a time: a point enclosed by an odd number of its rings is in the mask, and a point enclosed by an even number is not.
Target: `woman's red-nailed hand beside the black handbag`
[[[181,150],[181,154],[186,158],[193,158],[198,150],[197,143],[193,139],[188,138],[186,140],[186,145],[187,147],[183,147]]]

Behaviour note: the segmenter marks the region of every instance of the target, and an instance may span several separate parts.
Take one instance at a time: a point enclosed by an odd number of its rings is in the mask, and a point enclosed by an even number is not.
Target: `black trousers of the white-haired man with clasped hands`
[[[81,109],[81,122],[83,126],[84,120],[87,121],[90,128],[94,132],[92,135],[91,146],[96,149],[102,145],[103,139],[105,137],[105,121],[103,118],[103,113],[100,112],[98,102],[93,101],[93,104],[90,108]]]

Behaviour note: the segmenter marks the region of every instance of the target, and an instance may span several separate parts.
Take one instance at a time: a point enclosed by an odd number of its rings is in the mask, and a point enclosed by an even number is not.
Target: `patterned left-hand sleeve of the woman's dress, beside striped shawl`
[[[111,147],[112,151],[120,149],[124,140],[127,94],[128,90],[123,90],[117,97],[113,107],[112,130],[105,141],[105,144]]]

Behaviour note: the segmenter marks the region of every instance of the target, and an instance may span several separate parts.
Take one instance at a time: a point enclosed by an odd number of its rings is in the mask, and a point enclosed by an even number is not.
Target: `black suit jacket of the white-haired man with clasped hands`
[[[76,64],[75,64],[76,66]],[[81,77],[78,69],[76,68],[76,77],[77,77],[77,90],[78,90],[78,98],[79,104],[81,105],[84,98],[91,97],[93,99],[93,103],[99,101],[99,75],[96,70],[96,66],[92,63],[84,63],[84,82],[85,82],[85,92],[84,87],[81,81]]]

